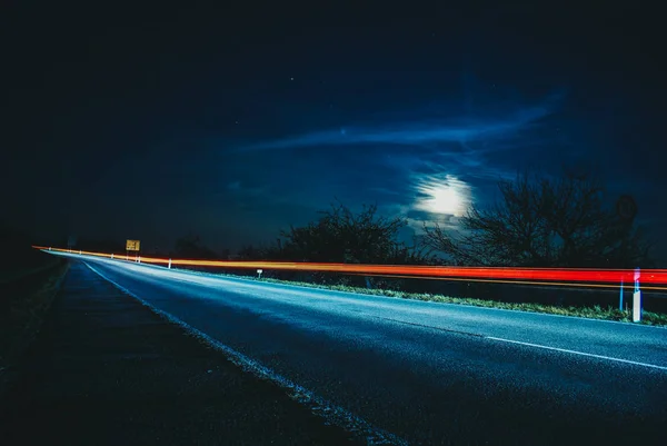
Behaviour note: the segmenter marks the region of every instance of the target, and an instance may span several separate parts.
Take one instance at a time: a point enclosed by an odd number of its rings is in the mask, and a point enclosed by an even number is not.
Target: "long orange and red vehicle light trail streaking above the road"
[[[69,249],[33,246],[36,249],[70,252]],[[407,265],[359,265],[359,264],[322,264],[322,262],[288,262],[288,261],[227,261],[227,260],[196,260],[196,259],[166,259],[143,257],[126,254],[104,254],[71,250],[71,254],[113,258],[118,260],[132,260],[137,257],[143,264],[172,266],[199,266],[216,268],[257,268],[293,271],[322,271],[354,275],[382,275],[400,276],[406,278],[440,278],[444,280],[488,280],[498,283],[525,285],[546,285],[546,283],[567,284],[573,286],[579,283],[591,286],[590,283],[633,284],[635,270],[633,269],[595,269],[595,268],[504,268],[504,267],[452,267],[452,266],[407,266]],[[538,281],[541,280],[541,281]],[[639,281],[643,288],[646,285],[667,285],[667,269],[643,269]],[[534,284],[535,283],[535,284]],[[569,283],[569,284],[568,284]],[[575,285],[576,286],[576,285]],[[665,289],[658,287],[657,289]]]

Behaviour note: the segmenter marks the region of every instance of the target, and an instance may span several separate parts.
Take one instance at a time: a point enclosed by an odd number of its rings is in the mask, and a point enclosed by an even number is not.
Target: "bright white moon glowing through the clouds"
[[[445,179],[425,178],[416,189],[420,197],[415,208],[419,210],[460,217],[470,206],[470,187],[450,175]]]

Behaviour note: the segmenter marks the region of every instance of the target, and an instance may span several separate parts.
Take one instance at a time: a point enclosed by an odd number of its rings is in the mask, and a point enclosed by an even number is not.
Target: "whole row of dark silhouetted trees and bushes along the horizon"
[[[245,246],[242,260],[515,267],[651,267],[651,244],[633,218],[605,201],[593,175],[558,178],[520,174],[498,182],[499,200],[471,206],[456,228],[425,224],[408,245],[404,217],[354,212],[339,201],[305,226],[290,226],[266,246]],[[212,258],[198,238],[182,238],[176,255]]]

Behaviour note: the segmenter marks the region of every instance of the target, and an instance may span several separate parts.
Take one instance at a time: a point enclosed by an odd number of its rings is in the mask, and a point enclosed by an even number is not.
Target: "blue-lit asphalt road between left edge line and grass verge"
[[[665,444],[664,328],[86,262],[410,444]]]

